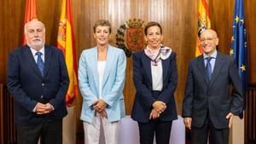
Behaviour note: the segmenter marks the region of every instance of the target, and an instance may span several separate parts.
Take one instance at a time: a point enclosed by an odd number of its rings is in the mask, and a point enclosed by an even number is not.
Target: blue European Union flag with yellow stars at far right
[[[234,55],[237,66],[239,68],[239,75],[241,77],[241,84],[244,96],[244,109],[246,107],[246,90],[247,90],[247,31],[244,19],[243,0],[236,0],[235,11],[233,17],[233,36],[232,48],[230,55]],[[242,117],[242,116],[241,116]]]

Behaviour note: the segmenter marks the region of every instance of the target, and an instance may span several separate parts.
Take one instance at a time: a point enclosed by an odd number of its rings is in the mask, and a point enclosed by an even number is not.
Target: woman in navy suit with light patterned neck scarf
[[[176,53],[161,44],[159,23],[144,29],[147,47],[133,55],[133,81],[137,89],[131,118],[138,123],[141,144],[168,144],[172,120],[177,119],[174,92],[177,88]]]

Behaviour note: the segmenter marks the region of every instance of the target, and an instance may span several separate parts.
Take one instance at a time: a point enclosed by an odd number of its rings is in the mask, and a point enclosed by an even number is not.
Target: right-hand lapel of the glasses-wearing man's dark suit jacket
[[[214,80],[216,80],[218,78],[217,77],[218,76],[218,72],[221,70],[223,65],[224,65],[223,56],[218,53],[218,55],[216,57],[216,60],[215,60],[215,66],[213,68],[212,79],[211,79],[209,87],[211,87],[211,85],[214,82]]]

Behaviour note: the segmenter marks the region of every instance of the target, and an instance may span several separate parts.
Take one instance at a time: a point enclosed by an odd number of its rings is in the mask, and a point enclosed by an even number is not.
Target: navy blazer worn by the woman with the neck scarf
[[[174,91],[177,88],[176,53],[172,52],[166,60],[161,60],[163,67],[163,89],[160,92],[152,90],[151,61],[144,51],[133,55],[133,81],[137,89],[131,118],[137,122],[147,123],[153,109],[154,101],[166,103],[166,111],[160,114],[163,121],[177,119]]]

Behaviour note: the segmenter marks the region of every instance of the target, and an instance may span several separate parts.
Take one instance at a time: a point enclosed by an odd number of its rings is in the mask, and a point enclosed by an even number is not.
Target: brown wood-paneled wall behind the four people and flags
[[[229,54],[231,25],[234,11],[233,0],[210,0],[212,28],[219,37],[218,50]],[[250,83],[256,84],[256,1],[244,0],[249,48]],[[8,54],[19,46],[22,39],[26,0],[1,0],[0,5],[0,82],[6,80]],[[95,46],[92,26],[98,19],[112,23],[110,43],[115,45],[115,34],[120,25],[133,18],[147,23],[155,20],[163,27],[164,44],[177,52],[178,85],[176,91],[177,110],[180,113],[189,60],[195,57],[197,34],[197,0],[73,0],[73,24],[79,58],[83,49]],[[38,18],[46,26],[46,42],[55,45],[61,0],[38,0]],[[132,82],[132,60],[127,59],[125,105],[131,112],[135,89]],[[253,73],[254,72],[254,73]],[[77,101],[80,112],[81,97]],[[79,118],[78,112],[78,118]]]

